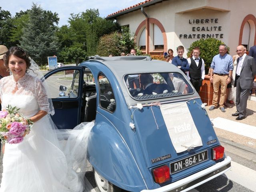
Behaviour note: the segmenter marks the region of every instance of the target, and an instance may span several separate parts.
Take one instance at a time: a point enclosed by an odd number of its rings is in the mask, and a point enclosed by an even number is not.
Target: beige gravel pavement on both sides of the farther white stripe
[[[247,116],[245,119],[237,121],[236,117],[233,117],[231,114],[236,112],[236,105],[235,104],[228,104],[229,107],[224,107],[226,109],[226,112],[221,112],[219,108],[216,108],[214,110],[208,110],[210,106],[206,106],[206,111],[209,115],[209,117],[216,118],[216,117],[222,117],[226,118],[228,120],[233,120],[236,122],[248,124],[251,126],[255,126],[256,128],[256,101],[248,100],[247,102]],[[233,142],[242,144],[244,146],[255,148],[256,149],[256,140],[242,136],[239,134],[235,134],[226,130],[222,130],[219,128],[214,128],[216,134],[218,137],[226,138],[228,140],[231,140]]]

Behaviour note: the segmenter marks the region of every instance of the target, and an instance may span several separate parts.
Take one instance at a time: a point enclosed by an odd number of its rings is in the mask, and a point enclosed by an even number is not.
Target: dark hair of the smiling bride
[[[22,58],[25,60],[26,62],[26,69],[28,70],[28,68],[30,67],[31,63],[30,63],[30,58],[28,56],[28,54],[20,47],[17,46],[12,46],[7,52],[6,54],[4,54],[4,65],[6,66],[6,68],[9,70],[8,64],[9,64],[9,58],[11,55],[14,55],[18,58]]]

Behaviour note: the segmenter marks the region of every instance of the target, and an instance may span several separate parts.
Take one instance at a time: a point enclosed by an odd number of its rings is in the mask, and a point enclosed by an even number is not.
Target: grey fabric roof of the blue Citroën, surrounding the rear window
[[[161,60],[152,60],[149,56],[117,56],[117,57],[100,57],[94,56],[89,58],[89,60],[97,60],[101,62],[105,66],[107,66],[114,74],[120,88],[124,94],[124,98],[128,106],[134,106],[137,103],[150,103],[151,100],[147,101],[137,101],[130,96],[126,83],[124,82],[124,76],[127,74],[142,74],[142,73],[160,73],[160,72],[178,72],[182,74],[184,73],[166,61]],[[193,96],[198,96],[195,92],[193,95],[181,95],[182,98],[190,98]],[[177,98],[175,98],[176,100]],[[166,100],[174,100],[174,98],[158,98],[158,101],[166,101]],[[152,99],[152,102],[155,102],[156,99]]]

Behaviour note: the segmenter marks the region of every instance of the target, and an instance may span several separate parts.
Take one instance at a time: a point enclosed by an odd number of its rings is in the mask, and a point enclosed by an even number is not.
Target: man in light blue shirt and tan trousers
[[[220,110],[226,112],[224,109],[224,102],[226,100],[226,90],[228,83],[231,82],[233,72],[233,59],[232,56],[227,54],[227,46],[220,45],[218,55],[212,59],[210,66],[210,81],[213,84],[213,99],[212,106],[209,110],[214,110],[218,106],[218,93],[220,90]]]

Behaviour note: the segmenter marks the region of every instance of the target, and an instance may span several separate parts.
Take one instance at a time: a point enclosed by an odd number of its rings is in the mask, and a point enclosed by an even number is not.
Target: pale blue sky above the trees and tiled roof
[[[9,11],[12,16],[20,10],[30,9],[32,2],[40,4],[44,10],[57,12],[60,18],[58,26],[68,24],[71,13],[78,14],[86,9],[98,9],[101,17],[132,6],[143,0],[1,0],[2,10]]]

